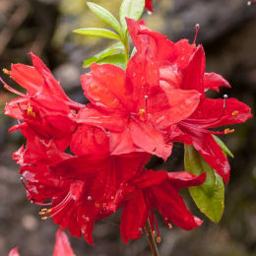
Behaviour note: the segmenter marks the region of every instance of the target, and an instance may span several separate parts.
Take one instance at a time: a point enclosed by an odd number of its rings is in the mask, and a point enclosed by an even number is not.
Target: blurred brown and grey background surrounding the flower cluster
[[[121,0],[99,1],[118,14]],[[256,95],[256,5],[246,0],[156,0],[155,13],[145,12],[148,26],[172,40],[187,37],[193,41],[195,24],[200,24],[197,42],[203,43],[207,70],[220,73],[232,86],[221,95],[235,96],[255,109]],[[89,12],[85,0],[0,0],[0,67],[11,63],[31,64],[29,52],[39,55],[59,79],[65,91],[85,102],[79,77],[85,58],[93,56],[111,41],[75,35],[72,30],[101,27]],[[1,74],[12,86],[14,83]],[[213,94],[213,96],[218,96]],[[41,221],[40,208],[30,204],[19,178],[19,166],[12,153],[23,143],[19,133],[8,134],[14,120],[2,109],[13,96],[0,89],[0,255],[19,246],[22,256],[51,255],[57,226]],[[222,139],[234,154],[231,177],[225,188],[225,210],[220,224],[208,221],[185,193],[195,215],[205,223],[193,231],[160,224],[160,254],[175,256],[253,256],[256,255],[256,122],[235,125],[235,133]],[[177,144],[167,161],[169,169],[183,169],[183,148]],[[155,160],[160,165],[160,160]],[[125,245],[119,235],[120,213],[98,222],[96,246],[83,238],[72,238],[80,255],[151,255],[146,237]]]

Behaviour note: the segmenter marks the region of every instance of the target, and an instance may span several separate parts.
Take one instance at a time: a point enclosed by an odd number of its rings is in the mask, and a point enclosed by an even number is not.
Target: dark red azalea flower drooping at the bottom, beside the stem
[[[124,242],[141,236],[142,230],[150,221],[154,230],[156,224],[159,233],[154,208],[162,216],[164,223],[170,223],[189,230],[202,224],[198,218],[191,215],[186,208],[178,190],[184,187],[198,186],[205,181],[206,173],[200,176],[188,172],[166,172],[143,170],[127,186],[125,193],[127,201],[122,212],[120,224],[121,236]]]

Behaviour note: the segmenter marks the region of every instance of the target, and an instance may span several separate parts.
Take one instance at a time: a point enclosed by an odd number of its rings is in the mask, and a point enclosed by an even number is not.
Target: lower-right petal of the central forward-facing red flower
[[[160,132],[150,123],[130,122],[133,142],[145,152],[166,160],[171,153],[172,145],[164,142]]]

